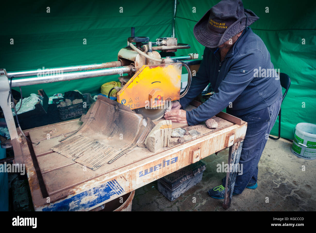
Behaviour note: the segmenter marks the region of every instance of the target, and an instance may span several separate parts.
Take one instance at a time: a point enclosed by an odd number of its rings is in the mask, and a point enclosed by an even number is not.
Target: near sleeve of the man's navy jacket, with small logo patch
[[[258,49],[235,58],[226,77],[219,85],[218,92],[196,109],[186,112],[188,124],[196,125],[208,120],[226,108],[230,102],[233,103],[254,78],[254,69],[262,67],[263,62],[263,55]]]

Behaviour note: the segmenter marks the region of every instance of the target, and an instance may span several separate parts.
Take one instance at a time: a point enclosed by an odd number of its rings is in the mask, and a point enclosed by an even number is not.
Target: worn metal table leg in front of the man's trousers
[[[228,155],[229,169],[226,175],[225,197],[224,197],[224,203],[223,203],[223,208],[225,210],[229,208],[230,202],[232,200],[242,143],[243,143],[243,140],[240,142],[236,142],[235,144],[229,147],[229,155]]]

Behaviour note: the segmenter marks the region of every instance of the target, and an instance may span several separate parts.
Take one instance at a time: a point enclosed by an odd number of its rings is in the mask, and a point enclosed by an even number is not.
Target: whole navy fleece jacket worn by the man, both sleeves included
[[[258,111],[273,104],[282,94],[270,53],[261,38],[249,27],[244,29],[222,62],[219,49],[204,49],[191,87],[180,99],[182,108],[209,83],[215,94],[196,109],[186,112],[189,125],[203,122],[228,106],[235,115]]]

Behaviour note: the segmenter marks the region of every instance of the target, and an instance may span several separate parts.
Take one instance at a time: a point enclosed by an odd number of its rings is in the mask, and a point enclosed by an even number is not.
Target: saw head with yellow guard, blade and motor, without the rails
[[[119,78],[122,87],[115,88],[118,91],[117,101],[144,117],[158,120],[170,107],[171,101],[179,100],[187,93],[191,71],[177,59],[168,56],[161,58],[157,50],[176,52],[177,49],[188,49],[190,45],[179,44],[174,37],[161,37],[156,42],[150,42],[149,37],[134,36],[134,32],[132,28],[131,37],[128,38],[129,46],[119,51],[118,60],[122,65],[133,64],[136,73],[132,77]],[[188,56],[196,58],[198,55]],[[188,85],[180,94],[182,65],[187,68],[189,75]]]

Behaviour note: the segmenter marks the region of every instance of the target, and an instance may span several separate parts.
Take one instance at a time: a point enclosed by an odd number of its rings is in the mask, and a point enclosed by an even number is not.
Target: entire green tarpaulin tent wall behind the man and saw
[[[204,47],[195,40],[193,26],[218,0],[177,3],[175,37],[179,42],[191,44],[191,49],[179,50],[176,55],[194,52],[202,55]],[[316,2],[244,0],[243,3],[260,17],[251,28],[270,51],[274,67],[291,78],[282,104],[281,136],[293,139],[297,123],[316,123]],[[173,7],[173,0],[137,4],[123,0],[7,1],[2,5],[0,23],[0,68],[13,71],[116,61],[119,49],[127,44],[131,27],[136,28],[136,36],[149,36],[151,41],[171,36]],[[11,39],[14,44],[10,44]],[[83,39],[87,44],[83,44]],[[101,84],[112,80],[117,80],[117,76],[27,86],[22,91],[23,97],[42,88],[48,95],[74,89],[97,94]],[[271,132],[275,135],[277,123]]]

